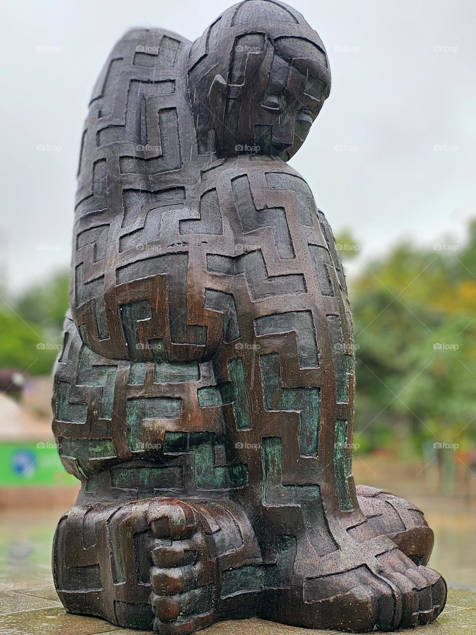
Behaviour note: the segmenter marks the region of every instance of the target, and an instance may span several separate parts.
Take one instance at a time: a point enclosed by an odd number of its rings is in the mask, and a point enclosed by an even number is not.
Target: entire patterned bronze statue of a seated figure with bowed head
[[[331,77],[297,11],[117,43],[83,134],[53,430],[81,480],[53,572],[72,613],[189,634],[261,617],[427,624],[433,533],[351,472],[354,347],[326,218],[287,161]]]

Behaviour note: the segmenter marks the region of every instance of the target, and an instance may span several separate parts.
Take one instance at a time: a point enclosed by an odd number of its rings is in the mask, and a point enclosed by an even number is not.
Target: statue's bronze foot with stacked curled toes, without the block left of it
[[[155,632],[188,635],[212,622],[256,615],[261,550],[239,505],[157,499],[147,517],[154,537]]]

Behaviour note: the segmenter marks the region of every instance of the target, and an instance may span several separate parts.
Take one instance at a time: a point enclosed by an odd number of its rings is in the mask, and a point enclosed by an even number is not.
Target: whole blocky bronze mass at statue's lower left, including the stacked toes
[[[242,571],[259,568],[261,551],[246,514],[229,501],[75,506],[56,530],[53,565],[67,611],[161,635],[254,615],[260,591],[241,592]],[[230,577],[236,592],[228,592]]]

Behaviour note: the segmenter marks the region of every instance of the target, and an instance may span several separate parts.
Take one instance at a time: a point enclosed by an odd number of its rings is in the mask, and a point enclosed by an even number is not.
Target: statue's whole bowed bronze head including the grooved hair
[[[329,96],[320,37],[275,0],[244,0],[195,41],[188,60],[201,154],[242,152],[288,161]]]

